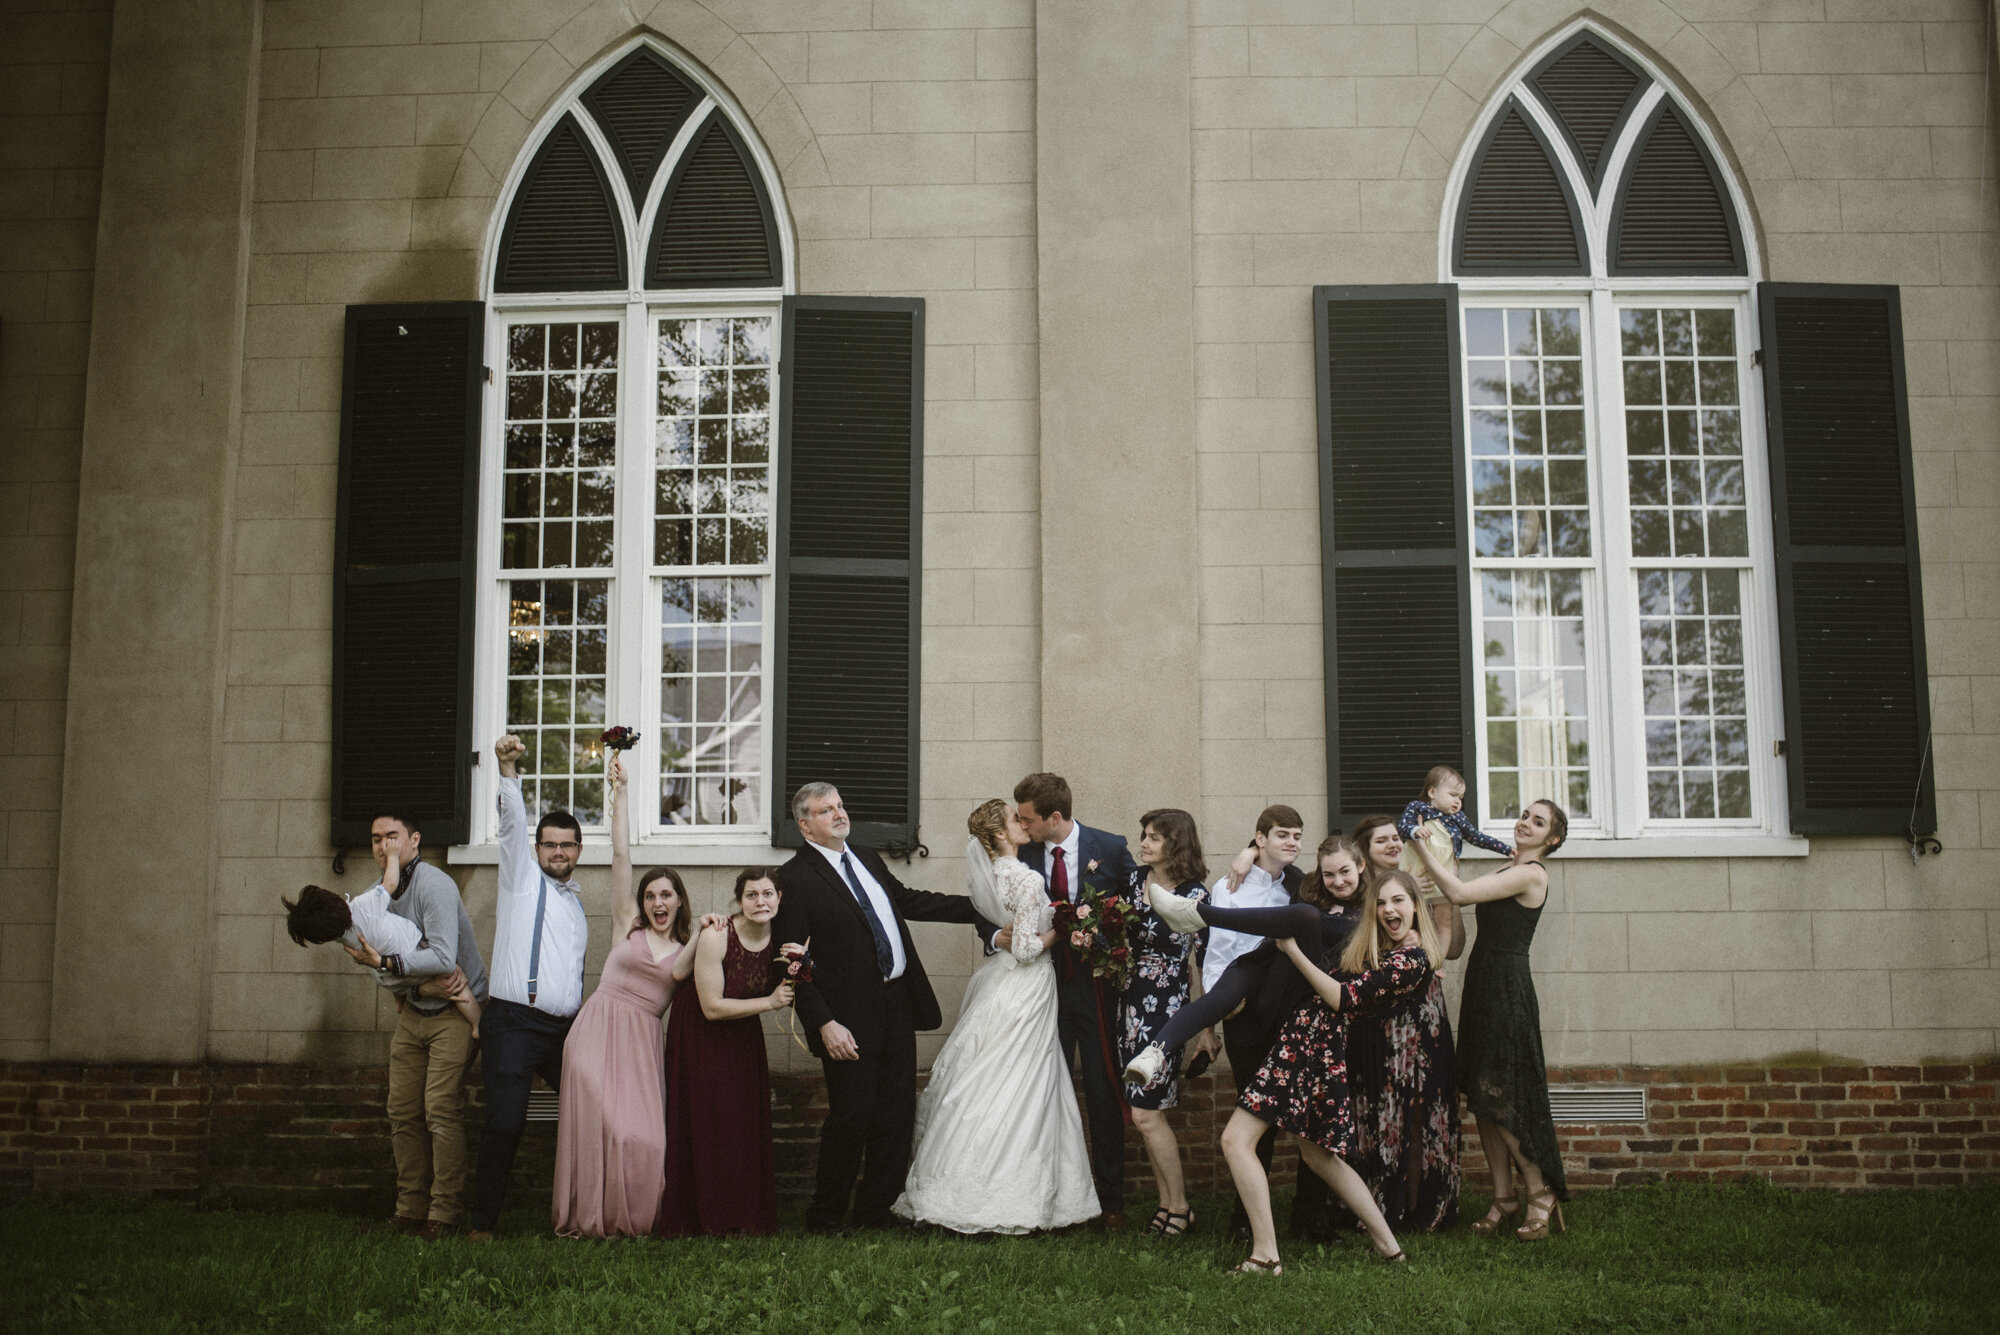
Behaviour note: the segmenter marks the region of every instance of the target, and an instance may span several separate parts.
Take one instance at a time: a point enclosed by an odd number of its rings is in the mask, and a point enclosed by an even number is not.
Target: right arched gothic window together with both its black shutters
[[[1574,24],[1468,138],[1440,282],[1316,290],[1336,821],[1444,759],[1502,835],[1934,827],[1898,296],[1758,282],[1722,164]]]

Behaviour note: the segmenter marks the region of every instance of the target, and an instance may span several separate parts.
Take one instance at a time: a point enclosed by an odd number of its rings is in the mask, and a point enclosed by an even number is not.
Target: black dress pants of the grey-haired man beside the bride
[[[820,1167],[806,1207],[808,1229],[838,1229],[854,1207],[854,1227],[890,1225],[890,1205],[910,1175],[916,1137],[916,1027],[910,989],[890,979],[882,989],[882,1037],[854,1061],[822,1059],[826,1125]],[[856,1189],[854,1179],[860,1177]]]

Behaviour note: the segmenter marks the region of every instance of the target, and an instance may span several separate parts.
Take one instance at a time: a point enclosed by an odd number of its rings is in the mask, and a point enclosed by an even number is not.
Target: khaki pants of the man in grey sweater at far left
[[[466,1193],[466,1067],[472,1025],[446,1005],[404,1007],[388,1045],[388,1133],[396,1151],[396,1213],[458,1223]]]

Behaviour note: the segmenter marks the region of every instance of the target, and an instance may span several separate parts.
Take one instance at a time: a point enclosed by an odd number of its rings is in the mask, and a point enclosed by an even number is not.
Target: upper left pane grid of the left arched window
[[[618,324],[510,326],[502,430],[502,568],[610,570]]]

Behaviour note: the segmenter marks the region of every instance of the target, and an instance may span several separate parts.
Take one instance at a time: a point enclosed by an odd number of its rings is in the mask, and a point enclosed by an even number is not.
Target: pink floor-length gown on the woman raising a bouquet
[[[562,1117],[550,1215],[564,1237],[644,1237],[666,1185],[666,1055],[660,1017],[674,959],[634,931],[604,959],[598,989],[562,1045]]]

